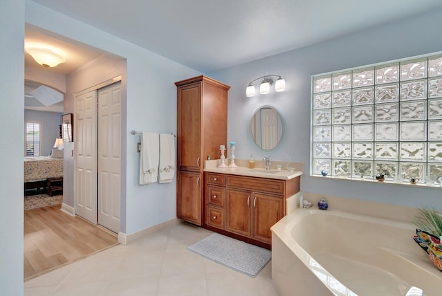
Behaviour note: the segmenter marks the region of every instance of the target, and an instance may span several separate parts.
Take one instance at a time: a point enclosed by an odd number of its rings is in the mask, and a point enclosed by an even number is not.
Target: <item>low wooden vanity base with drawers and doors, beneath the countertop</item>
[[[206,172],[205,180],[206,228],[267,248],[271,226],[286,214],[286,198],[300,190],[300,176],[280,180]]]

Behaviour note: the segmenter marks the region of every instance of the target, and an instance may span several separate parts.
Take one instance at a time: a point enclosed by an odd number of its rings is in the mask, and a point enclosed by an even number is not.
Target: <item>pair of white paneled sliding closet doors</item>
[[[76,97],[75,213],[119,232],[121,82]]]

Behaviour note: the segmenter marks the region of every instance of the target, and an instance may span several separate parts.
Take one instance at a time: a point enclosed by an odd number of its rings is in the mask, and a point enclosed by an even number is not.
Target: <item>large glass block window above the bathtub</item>
[[[311,174],[442,176],[442,53],[311,79]]]

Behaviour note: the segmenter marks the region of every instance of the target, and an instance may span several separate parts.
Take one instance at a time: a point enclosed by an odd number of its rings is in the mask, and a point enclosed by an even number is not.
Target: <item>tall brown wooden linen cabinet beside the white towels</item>
[[[204,160],[227,147],[227,91],[230,86],[204,75],[177,86],[177,217],[202,225]]]

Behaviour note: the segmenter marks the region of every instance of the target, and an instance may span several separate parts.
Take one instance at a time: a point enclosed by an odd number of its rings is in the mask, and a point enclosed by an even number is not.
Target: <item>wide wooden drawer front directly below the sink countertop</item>
[[[271,180],[267,178],[227,176],[227,187],[249,189],[253,192],[271,192],[280,195],[285,194],[285,181]]]

